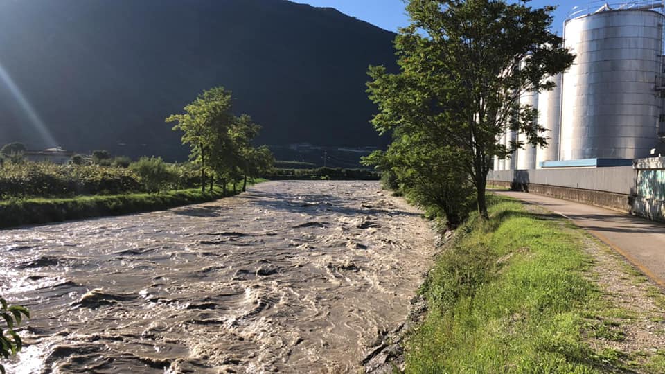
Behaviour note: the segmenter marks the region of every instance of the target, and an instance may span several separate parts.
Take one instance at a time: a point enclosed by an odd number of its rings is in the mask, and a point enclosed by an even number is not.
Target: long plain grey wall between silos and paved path
[[[635,195],[636,172],[632,166],[490,171],[488,181],[540,184]]]

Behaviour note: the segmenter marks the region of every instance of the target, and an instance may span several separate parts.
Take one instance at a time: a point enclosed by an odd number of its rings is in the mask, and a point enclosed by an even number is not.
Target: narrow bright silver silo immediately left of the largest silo
[[[538,95],[538,124],[546,128],[547,146],[538,147],[535,151],[535,167],[540,168],[544,161],[557,161],[559,159],[559,129],[561,113],[561,74],[547,80],[556,84],[549,91],[542,91]]]

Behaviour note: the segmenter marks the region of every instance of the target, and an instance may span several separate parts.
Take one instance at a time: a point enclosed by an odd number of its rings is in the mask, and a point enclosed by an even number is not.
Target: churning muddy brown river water
[[[276,181],[170,211],[0,231],[30,308],[10,373],[357,372],[432,264],[427,223],[365,181]]]

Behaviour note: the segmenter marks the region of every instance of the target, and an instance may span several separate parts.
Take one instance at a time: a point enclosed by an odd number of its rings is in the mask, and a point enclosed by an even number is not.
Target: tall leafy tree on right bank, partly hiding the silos
[[[553,88],[547,77],[574,60],[551,33],[553,7],[533,9],[504,0],[411,0],[412,24],[396,38],[400,73],[371,66],[369,94],[381,133],[427,134],[425,147],[459,157],[472,180],[477,209],[488,218],[485,188],[495,156],[524,143],[498,144],[506,130],[544,145],[537,109],[520,107],[520,94]]]

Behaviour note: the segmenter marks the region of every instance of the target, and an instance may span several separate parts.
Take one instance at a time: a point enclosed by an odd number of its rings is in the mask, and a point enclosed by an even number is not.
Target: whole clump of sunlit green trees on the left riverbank
[[[226,188],[227,182],[258,177],[272,168],[274,157],[263,145],[254,147],[252,141],[260,126],[247,114],[234,116],[231,91],[215,87],[203,91],[184,108],[184,114],[173,114],[166,122],[176,123],[173,130],[183,132],[182,143],[190,146],[192,159],[201,170],[201,190],[215,181]]]

